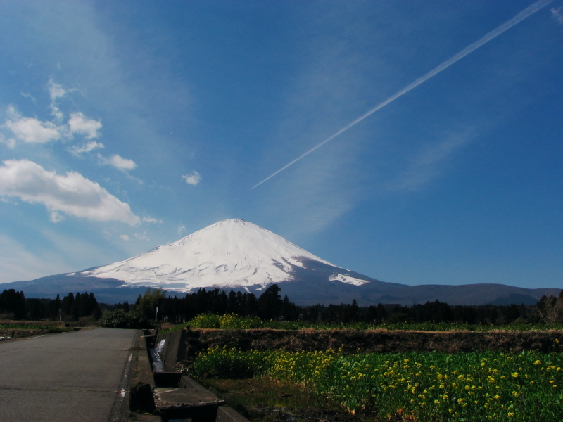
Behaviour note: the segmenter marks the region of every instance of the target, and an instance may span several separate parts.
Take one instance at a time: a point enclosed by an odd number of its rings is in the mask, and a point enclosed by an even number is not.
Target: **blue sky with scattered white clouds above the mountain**
[[[0,282],[220,219],[382,281],[562,287],[555,0],[3,1]]]

